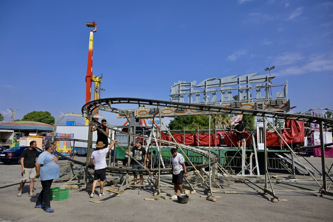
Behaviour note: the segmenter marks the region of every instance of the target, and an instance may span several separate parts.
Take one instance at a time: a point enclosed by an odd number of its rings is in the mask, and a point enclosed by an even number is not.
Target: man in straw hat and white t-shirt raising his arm
[[[90,197],[97,197],[97,195],[95,194],[95,187],[99,179],[101,180],[101,185],[100,185],[101,192],[98,194],[98,196],[99,197],[106,196],[106,194],[103,193],[104,180],[106,175],[105,168],[107,167],[105,156],[109,152],[109,150],[115,145],[116,142],[117,140],[115,139],[113,140],[113,142],[110,144],[109,147],[102,149],[103,146],[105,146],[105,144],[103,143],[103,141],[99,141],[96,144],[95,151],[91,154],[90,163],[95,171],[94,171],[93,190],[91,192]]]

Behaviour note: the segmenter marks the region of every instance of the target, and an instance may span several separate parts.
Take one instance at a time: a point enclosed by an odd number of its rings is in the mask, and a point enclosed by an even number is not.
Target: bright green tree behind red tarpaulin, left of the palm
[[[209,128],[208,115],[188,115],[188,116],[176,116],[169,123],[170,130],[181,130],[183,127],[186,130],[195,130]],[[183,127],[181,127],[183,126]],[[213,118],[211,118],[210,127],[213,128]]]

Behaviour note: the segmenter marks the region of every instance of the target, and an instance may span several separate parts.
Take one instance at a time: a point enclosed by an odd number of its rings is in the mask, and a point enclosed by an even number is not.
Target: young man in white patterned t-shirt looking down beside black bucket
[[[171,149],[171,162],[172,162],[172,183],[174,183],[174,195],[171,199],[177,199],[177,192],[180,190],[180,196],[186,195],[183,193],[183,176],[187,177],[185,159],[177,153],[176,148]]]

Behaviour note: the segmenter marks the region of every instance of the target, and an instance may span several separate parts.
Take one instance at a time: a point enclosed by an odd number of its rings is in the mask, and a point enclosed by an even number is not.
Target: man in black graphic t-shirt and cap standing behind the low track
[[[126,152],[126,154],[128,155],[132,155],[133,154],[133,158],[138,160],[138,162],[140,162],[142,165],[146,164],[146,159],[147,159],[147,154],[146,154],[146,149],[144,147],[142,147],[142,140],[138,139],[136,141],[136,145],[133,146],[131,152]],[[143,167],[141,165],[139,165],[136,161],[133,161],[133,169],[143,169]],[[137,180],[138,180],[138,175],[136,174],[136,172],[134,172],[134,185],[137,185]],[[141,185],[144,185],[144,176],[140,175],[140,182]],[[134,186],[132,189],[135,189],[136,186]],[[141,187],[141,190],[143,190],[144,188]]]

